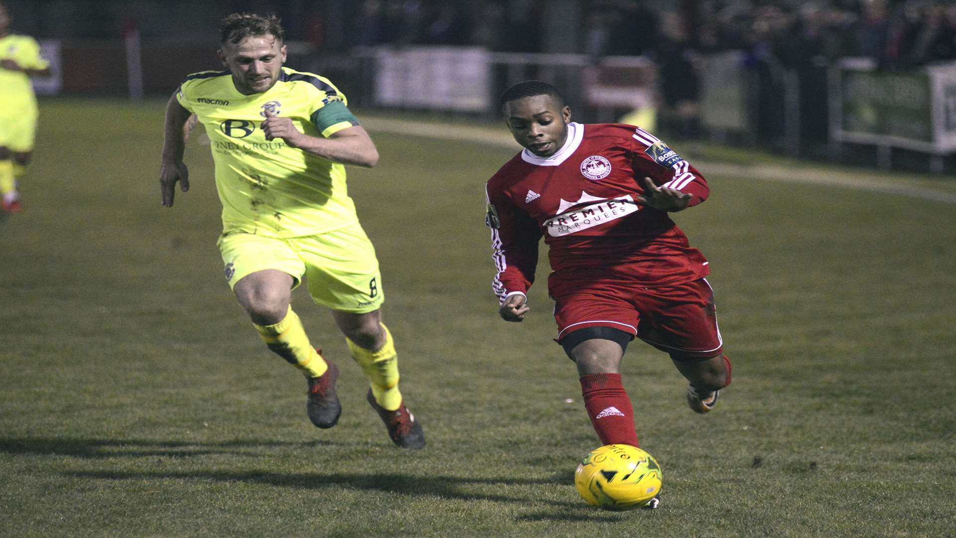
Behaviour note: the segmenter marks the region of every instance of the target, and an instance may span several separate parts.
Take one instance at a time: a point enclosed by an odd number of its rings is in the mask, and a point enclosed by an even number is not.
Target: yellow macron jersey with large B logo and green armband
[[[282,139],[267,141],[261,128],[267,109],[314,137],[358,125],[345,96],[327,78],[283,67],[268,91],[243,95],[229,71],[206,71],[189,75],[176,99],[206,127],[224,234],[296,237],[358,221],[345,167]]]

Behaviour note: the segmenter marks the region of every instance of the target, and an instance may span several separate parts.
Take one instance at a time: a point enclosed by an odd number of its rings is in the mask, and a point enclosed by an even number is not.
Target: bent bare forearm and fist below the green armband
[[[361,125],[346,127],[329,138],[319,138],[300,132],[292,119],[275,116],[267,110],[262,130],[266,133],[266,140],[281,138],[289,146],[334,163],[372,168],[379,162],[379,150]]]

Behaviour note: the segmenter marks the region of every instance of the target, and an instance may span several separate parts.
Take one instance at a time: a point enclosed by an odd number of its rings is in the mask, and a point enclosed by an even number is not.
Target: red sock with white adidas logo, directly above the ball
[[[601,443],[641,446],[634,429],[634,408],[620,384],[620,374],[589,373],[580,381],[584,407]]]

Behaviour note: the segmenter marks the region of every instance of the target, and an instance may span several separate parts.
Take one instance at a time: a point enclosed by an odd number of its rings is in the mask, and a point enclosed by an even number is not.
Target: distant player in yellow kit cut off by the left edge
[[[29,35],[10,33],[13,19],[0,2],[0,197],[5,213],[22,210],[16,181],[33,154],[39,116],[31,77],[50,74],[50,63]]]

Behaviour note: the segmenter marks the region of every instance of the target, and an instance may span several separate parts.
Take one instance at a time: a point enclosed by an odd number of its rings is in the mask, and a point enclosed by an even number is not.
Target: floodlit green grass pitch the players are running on
[[[484,183],[513,151],[373,131],[380,166],[349,171],[428,439],[412,453],[299,290],[342,370],[341,421],[309,423],[300,374],[222,277],[198,139],[192,190],[160,206],[162,110],[42,103],[26,212],[0,223],[0,535],[953,534],[952,204],[709,174],[676,219],[711,260],[733,385],[694,415],[670,360],[629,347],[663,507],[611,513],[572,484],[598,441],[551,342],[547,268],[524,324],[490,293]]]

